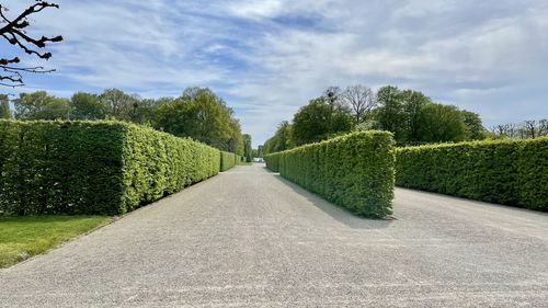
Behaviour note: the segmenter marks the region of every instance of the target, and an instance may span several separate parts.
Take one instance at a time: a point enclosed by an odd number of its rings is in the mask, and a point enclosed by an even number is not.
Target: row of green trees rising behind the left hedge
[[[190,137],[220,150],[249,157],[251,136],[243,135],[232,109],[207,88],[187,88],[179,98],[142,99],[117,89],[101,94],[77,92],[70,99],[46,91],[21,93],[12,101],[0,96],[0,118],[117,119]]]

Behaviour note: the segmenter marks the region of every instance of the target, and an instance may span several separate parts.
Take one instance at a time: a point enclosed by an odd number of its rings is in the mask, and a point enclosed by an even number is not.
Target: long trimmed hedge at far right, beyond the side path
[[[397,150],[397,185],[548,210],[548,137]]]

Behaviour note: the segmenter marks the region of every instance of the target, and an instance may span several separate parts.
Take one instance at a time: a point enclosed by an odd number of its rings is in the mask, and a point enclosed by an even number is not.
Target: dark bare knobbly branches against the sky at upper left
[[[26,28],[31,25],[30,18],[33,14],[36,14],[45,9],[56,8],[59,5],[55,3],[49,3],[47,1],[38,1],[36,3],[28,7],[21,14],[15,16],[14,19],[10,19],[7,16],[8,8],[3,4],[0,4],[0,35],[8,41],[11,45],[19,47],[24,53],[28,55],[35,55],[41,59],[49,59],[52,57],[52,53],[41,53],[38,49],[45,48],[47,44],[61,42],[62,36],[42,36],[41,38],[32,37]],[[7,87],[20,87],[23,85],[23,73],[45,73],[52,72],[53,69],[46,70],[44,67],[34,66],[34,67],[25,67],[20,66],[21,59],[16,56],[11,57],[1,57],[0,58],[0,68],[3,69],[3,73],[0,75],[0,85]]]

